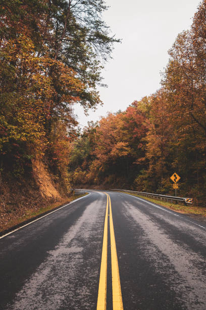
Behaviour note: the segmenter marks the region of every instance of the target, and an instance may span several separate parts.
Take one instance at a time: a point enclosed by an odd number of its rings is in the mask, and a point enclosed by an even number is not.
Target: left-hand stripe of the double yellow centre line
[[[108,256],[108,196],[107,208],[105,215],[105,228],[103,236],[102,254],[101,254],[101,267],[99,276],[97,310],[106,310],[107,307],[107,256]]]

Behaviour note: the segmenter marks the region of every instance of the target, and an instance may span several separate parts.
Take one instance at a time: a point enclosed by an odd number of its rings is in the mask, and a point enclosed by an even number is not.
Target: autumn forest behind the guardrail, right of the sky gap
[[[90,123],[73,142],[74,186],[125,188],[205,201],[206,1],[169,50],[161,88]]]

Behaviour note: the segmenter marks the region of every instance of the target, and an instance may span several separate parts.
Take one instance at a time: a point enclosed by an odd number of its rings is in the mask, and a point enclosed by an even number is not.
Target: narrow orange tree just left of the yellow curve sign
[[[170,112],[164,90],[159,90],[150,97],[150,111],[147,119],[145,160],[146,183],[150,191],[165,191],[166,180],[169,181],[171,151],[174,150],[174,127],[169,119]],[[143,171],[145,175],[145,171]],[[142,183],[141,178],[139,181]],[[136,181],[137,185],[138,182]],[[145,184],[142,183],[142,186]]]

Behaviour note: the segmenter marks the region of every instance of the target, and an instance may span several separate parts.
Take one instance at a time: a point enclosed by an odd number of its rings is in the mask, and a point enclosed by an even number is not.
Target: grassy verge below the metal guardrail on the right
[[[134,194],[130,194],[130,193],[128,195],[132,195],[132,196],[142,198],[144,200],[148,200],[150,202],[156,203],[156,204],[161,205],[163,207],[166,207],[168,209],[174,210],[178,213],[188,214],[188,215],[200,215],[200,216],[206,217],[206,208],[203,208],[203,207],[196,207],[193,205],[185,206],[185,205],[181,205],[181,204],[173,204],[170,202],[164,202],[164,201],[160,201],[158,199],[152,199],[152,198],[144,197],[141,195],[134,195]]]

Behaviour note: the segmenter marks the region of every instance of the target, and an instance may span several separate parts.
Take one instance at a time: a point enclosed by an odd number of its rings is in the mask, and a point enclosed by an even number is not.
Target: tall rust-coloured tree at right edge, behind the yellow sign
[[[163,79],[185,187],[191,190],[195,183],[196,192],[201,191],[200,184],[205,186],[205,13],[206,3],[202,1],[191,29],[179,34],[170,50]]]

